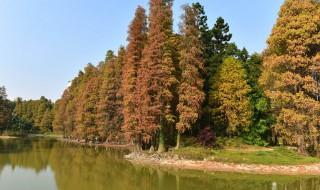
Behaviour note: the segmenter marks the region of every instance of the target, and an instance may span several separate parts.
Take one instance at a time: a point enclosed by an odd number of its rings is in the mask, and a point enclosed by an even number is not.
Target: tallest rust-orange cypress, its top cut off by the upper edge
[[[150,0],[148,43],[138,72],[139,126],[144,140],[156,140],[158,152],[164,151],[164,128],[173,122],[172,85],[177,82],[170,38],[172,37],[172,0]]]

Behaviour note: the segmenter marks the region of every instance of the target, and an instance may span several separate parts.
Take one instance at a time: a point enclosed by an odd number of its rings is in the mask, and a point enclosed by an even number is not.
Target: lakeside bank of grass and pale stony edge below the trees
[[[132,144],[60,140],[89,146],[130,149],[131,153],[125,159],[139,165],[250,174],[320,175],[320,158],[302,156],[287,147],[224,150],[184,147],[163,154],[148,154],[145,151],[134,152]]]

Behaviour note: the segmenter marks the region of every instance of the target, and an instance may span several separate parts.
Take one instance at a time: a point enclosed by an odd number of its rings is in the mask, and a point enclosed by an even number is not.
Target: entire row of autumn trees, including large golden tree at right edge
[[[127,46],[88,64],[56,101],[53,130],[159,152],[179,148],[181,136],[213,134],[261,146],[283,139],[318,154],[319,4],[286,0],[268,47],[249,55],[223,18],[208,26],[200,3],[182,6],[175,33],[173,0],[150,0]]]

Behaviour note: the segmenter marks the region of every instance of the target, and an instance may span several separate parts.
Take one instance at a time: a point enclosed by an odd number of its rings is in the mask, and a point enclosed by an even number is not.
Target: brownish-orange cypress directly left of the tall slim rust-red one
[[[124,47],[120,47],[118,56],[107,56],[103,71],[103,81],[98,105],[99,135],[103,140],[120,140],[123,124],[123,92],[121,88],[122,69],[125,57]]]

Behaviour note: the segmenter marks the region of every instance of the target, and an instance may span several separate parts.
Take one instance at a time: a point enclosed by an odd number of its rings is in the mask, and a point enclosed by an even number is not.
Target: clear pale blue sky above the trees
[[[284,0],[198,0],[210,28],[222,16],[232,41],[250,53],[266,47]],[[174,2],[175,30],[180,6]],[[0,86],[9,98],[60,98],[68,81],[87,63],[97,65],[107,50],[126,45],[138,5],[148,0],[0,0]]]

